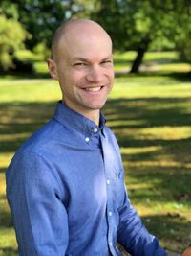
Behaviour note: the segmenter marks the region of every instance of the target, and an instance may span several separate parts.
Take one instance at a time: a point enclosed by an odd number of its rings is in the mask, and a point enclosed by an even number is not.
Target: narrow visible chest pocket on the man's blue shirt
[[[117,208],[124,203],[125,189],[124,189],[124,170],[117,172]]]

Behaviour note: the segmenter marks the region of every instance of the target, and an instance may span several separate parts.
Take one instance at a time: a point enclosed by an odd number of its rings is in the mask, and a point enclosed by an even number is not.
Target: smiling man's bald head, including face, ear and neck
[[[66,105],[87,117],[99,112],[114,82],[112,41],[92,20],[71,20],[55,32],[50,74]]]

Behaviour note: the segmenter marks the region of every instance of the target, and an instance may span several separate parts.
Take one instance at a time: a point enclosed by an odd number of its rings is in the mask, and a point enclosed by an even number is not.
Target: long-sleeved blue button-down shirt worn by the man
[[[20,256],[167,255],[124,186],[116,138],[58,103],[53,119],[16,152],[7,196]]]

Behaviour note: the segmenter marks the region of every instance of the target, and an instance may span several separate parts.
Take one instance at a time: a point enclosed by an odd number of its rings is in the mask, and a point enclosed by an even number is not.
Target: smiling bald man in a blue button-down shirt
[[[110,36],[91,20],[62,24],[48,66],[62,101],[7,171],[19,255],[117,256],[117,242],[132,255],[167,255],[128,199],[117,141],[100,113],[114,82]]]

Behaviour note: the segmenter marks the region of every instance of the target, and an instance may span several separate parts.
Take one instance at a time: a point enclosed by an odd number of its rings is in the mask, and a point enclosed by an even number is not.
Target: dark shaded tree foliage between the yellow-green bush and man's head
[[[66,20],[69,9],[67,1],[18,0],[16,5],[19,21],[32,35],[32,39],[26,41],[28,49],[32,50],[39,43],[49,48],[55,28]]]

